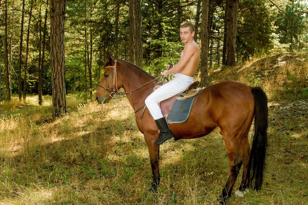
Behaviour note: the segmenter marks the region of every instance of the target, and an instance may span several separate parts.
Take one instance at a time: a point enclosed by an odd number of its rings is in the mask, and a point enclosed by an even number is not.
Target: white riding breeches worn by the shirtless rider
[[[162,85],[152,92],[145,100],[150,114],[156,119],[163,117],[158,103],[183,92],[193,83],[193,77],[177,73],[172,81]]]

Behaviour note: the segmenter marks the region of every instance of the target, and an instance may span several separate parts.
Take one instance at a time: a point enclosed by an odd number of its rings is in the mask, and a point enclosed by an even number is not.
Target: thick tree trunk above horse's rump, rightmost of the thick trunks
[[[226,65],[235,65],[236,29],[238,24],[239,0],[227,1],[227,53]]]

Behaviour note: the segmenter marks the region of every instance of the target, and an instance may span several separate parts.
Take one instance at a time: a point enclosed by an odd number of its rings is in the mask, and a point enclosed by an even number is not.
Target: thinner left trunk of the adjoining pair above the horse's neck
[[[134,63],[134,34],[135,34],[135,22],[134,22],[134,0],[129,0],[129,43],[128,43],[128,56],[129,62]]]

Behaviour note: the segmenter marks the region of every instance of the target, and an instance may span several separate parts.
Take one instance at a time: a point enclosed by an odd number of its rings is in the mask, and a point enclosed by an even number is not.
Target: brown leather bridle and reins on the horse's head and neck
[[[131,101],[132,101],[132,104],[133,104],[133,108],[135,108],[135,106],[134,106],[134,102],[133,102],[132,92],[133,92],[133,91],[136,91],[137,89],[142,88],[142,87],[144,87],[144,86],[146,86],[146,85],[152,83],[153,81],[156,81],[157,79],[159,79],[159,78],[162,77],[162,75],[160,75],[160,76],[154,78],[153,80],[151,80],[151,81],[149,81],[149,82],[147,82],[147,83],[145,83],[145,84],[139,86],[138,88],[135,88],[135,89],[133,89],[133,90],[131,90],[131,91],[129,91],[129,92],[118,92],[118,82],[117,82],[117,60],[115,60],[115,64],[114,64],[114,65],[109,65],[109,66],[106,66],[105,68],[112,68],[112,76],[111,76],[110,79],[109,79],[109,83],[108,83],[108,86],[107,86],[107,87],[103,87],[103,86],[100,85],[100,84],[98,84],[98,86],[99,86],[100,88],[103,88],[103,89],[107,90],[107,91],[110,93],[109,96],[110,96],[111,98],[115,98],[116,95],[129,94],[130,97],[131,97]],[[110,83],[111,83],[111,80],[112,80],[112,79],[113,79],[113,89],[110,90],[110,89],[109,89],[109,86],[110,86]],[[146,108],[145,105],[146,105],[146,104],[144,103],[139,109],[137,109],[137,110],[135,111],[135,113],[137,113],[138,111],[140,111],[142,108],[144,108],[144,109],[143,109],[143,112],[144,112],[144,110],[145,110],[145,108]],[[142,112],[142,114],[143,114],[143,112]],[[141,114],[141,116],[142,116],[142,114]],[[140,118],[141,118],[141,116],[140,116]]]

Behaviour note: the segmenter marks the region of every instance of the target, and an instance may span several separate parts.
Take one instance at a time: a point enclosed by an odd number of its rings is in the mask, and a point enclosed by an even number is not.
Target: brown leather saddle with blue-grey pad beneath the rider
[[[195,81],[183,92],[160,102],[162,115],[168,123],[183,123],[188,119],[192,103],[201,90],[197,88],[198,85],[199,81]]]

